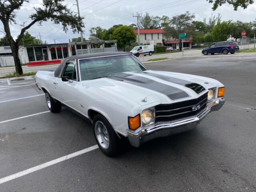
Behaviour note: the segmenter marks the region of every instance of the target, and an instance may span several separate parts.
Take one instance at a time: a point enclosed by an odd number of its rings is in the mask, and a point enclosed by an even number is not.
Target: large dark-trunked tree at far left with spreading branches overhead
[[[10,24],[17,24],[16,16],[24,3],[29,3],[29,0],[0,0],[0,20],[4,26],[6,37],[10,42],[10,47],[15,62],[15,69],[18,74],[23,74],[21,62],[19,58],[19,45],[24,37],[24,33],[34,24],[42,24],[44,21],[51,20],[54,24],[62,24],[65,32],[68,26],[72,28],[73,32],[82,31],[84,23],[83,18],[78,17],[74,12],[62,4],[64,0],[42,0],[42,4],[34,7],[34,13],[30,14],[31,21],[25,25],[22,24],[22,29],[16,40],[13,39],[10,29]]]

